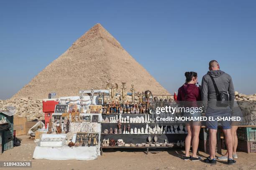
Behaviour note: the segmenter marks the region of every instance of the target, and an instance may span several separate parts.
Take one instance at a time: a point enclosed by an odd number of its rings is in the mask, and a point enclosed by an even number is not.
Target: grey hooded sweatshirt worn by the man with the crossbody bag
[[[217,101],[215,88],[210,76],[214,78],[214,81],[216,83],[216,86],[218,87],[218,90],[220,92],[225,92],[226,94],[229,95],[230,108],[232,108],[235,100],[235,90],[234,90],[232,78],[230,75],[228,75],[227,73],[221,70],[208,71],[207,74],[202,77],[202,87],[201,87],[202,101],[204,102],[208,101],[209,104],[210,102],[215,103],[215,101]],[[219,107],[215,109],[223,109],[223,108]]]

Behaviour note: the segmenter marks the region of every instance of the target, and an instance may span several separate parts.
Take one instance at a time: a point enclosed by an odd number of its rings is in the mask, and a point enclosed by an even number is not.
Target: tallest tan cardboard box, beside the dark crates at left
[[[14,130],[16,130],[16,136],[18,135],[26,135],[26,122],[27,117],[14,117],[13,118],[13,126]]]

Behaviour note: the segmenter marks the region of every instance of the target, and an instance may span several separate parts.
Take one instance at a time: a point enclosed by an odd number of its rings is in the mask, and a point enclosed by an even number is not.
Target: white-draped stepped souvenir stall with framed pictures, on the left
[[[93,160],[100,155],[102,105],[90,95],[60,97],[45,133],[41,133],[34,159]]]

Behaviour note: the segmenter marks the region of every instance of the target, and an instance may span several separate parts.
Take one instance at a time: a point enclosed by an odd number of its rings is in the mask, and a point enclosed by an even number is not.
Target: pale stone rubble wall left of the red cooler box
[[[15,116],[26,116],[28,121],[34,119],[44,120],[42,100],[28,97],[0,100],[0,110],[5,110],[6,106],[16,107],[17,112]]]

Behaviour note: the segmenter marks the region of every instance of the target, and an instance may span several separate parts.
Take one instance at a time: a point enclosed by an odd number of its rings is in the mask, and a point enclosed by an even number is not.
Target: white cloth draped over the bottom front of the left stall
[[[95,160],[98,157],[98,147],[69,147],[60,148],[36,146],[34,159],[48,160]]]

